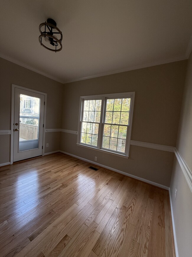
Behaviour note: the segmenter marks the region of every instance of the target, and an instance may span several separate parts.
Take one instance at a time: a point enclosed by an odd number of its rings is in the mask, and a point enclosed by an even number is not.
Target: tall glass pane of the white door
[[[39,147],[40,98],[20,94],[19,151]]]

